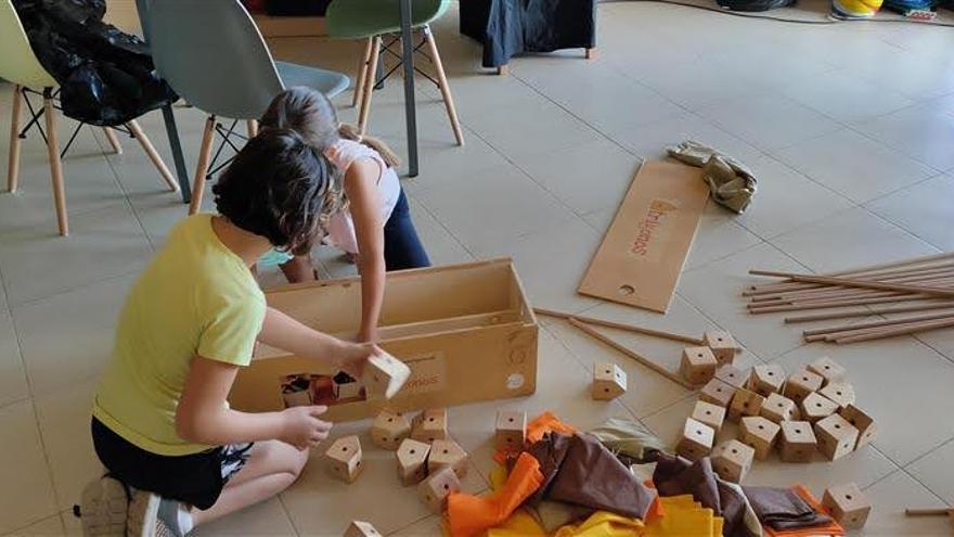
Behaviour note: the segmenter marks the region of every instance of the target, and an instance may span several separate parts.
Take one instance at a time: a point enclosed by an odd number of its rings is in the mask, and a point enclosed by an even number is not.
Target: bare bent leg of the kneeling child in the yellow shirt
[[[192,510],[194,525],[214,521],[242,508],[258,503],[288,488],[308,462],[308,451],[299,451],[278,440],[258,442],[248,461],[238,471],[211,508]]]

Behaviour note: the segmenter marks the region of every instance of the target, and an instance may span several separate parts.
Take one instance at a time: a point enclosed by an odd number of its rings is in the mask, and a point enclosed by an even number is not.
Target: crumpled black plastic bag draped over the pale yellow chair
[[[34,53],[60,84],[65,116],[116,126],[179,99],[156,75],[142,39],[103,23],[104,0],[13,0],[13,5]]]

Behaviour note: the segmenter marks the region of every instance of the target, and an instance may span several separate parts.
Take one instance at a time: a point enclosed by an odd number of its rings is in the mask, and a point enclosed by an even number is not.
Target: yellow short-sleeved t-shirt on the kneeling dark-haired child
[[[248,366],[265,312],[265,295],[212,231],[211,215],[182,220],[126,298],[93,415],[153,453],[209,449],[176,434],[192,359]]]

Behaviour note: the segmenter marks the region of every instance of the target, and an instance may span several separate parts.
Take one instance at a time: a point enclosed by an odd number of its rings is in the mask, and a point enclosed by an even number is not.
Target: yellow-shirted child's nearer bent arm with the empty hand
[[[327,438],[331,423],[319,419],[326,407],[294,407],[281,412],[247,413],[230,409],[225,397],[238,366],[196,356],[176,409],[176,432],[210,446],[279,439],[299,449]]]

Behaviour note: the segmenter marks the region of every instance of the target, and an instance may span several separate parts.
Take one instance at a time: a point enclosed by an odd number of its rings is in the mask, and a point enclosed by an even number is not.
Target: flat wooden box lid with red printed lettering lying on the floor
[[[644,162],[577,291],[665,314],[708,200],[700,168]]]

